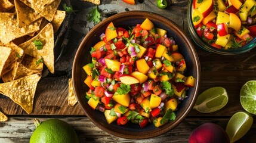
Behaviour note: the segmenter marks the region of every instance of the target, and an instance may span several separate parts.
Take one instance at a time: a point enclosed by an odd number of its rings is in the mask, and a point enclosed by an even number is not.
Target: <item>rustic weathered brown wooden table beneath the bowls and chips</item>
[[[101,10],[103,19],[113,13],[128,10],[158,13],[177,23],[189,35],[187,31],[187,0],[172,0],[172,4],[165,10],[157,8],[155,3],[155,0],[147,0],[138,1],[135,5],[128,5],[121,0],[103,0],[98,8]],[[214,86],[226,88],[229,94],[229,102],[226,107],[209,114],[192,110],[177,128],[156,138],[131,140],[103,132],[85,116],[78,104],[74,107],[67,105],[68,79],[72,74],[76,49],[82,38],[94,27],[94,23],[88,23],[86,17],[88,11],[95,5],[78,0],[72,1],[72,5],[78,11],[72,23],[69,43],[64,50],[64,55],[55,64],[55,74],[48,74],[39,82],[33,112],[26,114],[19,105],[0,95],[0,110],[9,117],[7,122],[0,123],[0,142],[29,142],[35,129],[32,122],[34,118],[41,121],[53,118],[66,121],[76,130],[81,142],[187,142],[192,130],[202,123],[217,123],[225,129],[230,117],[238,111],[243,111],[239,101],[239,92],[245,82],[256,79],[256,49],[245,54],[224,56],[206,52],[195,46],[202,69],[200,92]],[[249,132],[238,142],[255,142],[255,134],[256,123],[254,122]]]

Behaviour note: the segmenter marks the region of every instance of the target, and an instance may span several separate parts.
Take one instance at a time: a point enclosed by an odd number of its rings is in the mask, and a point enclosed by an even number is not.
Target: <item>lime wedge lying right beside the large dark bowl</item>
[[[211,113],[223,108],[228,100],[226,89],[222,87],[209,88],[198,96],[193,109],[201,113]]]

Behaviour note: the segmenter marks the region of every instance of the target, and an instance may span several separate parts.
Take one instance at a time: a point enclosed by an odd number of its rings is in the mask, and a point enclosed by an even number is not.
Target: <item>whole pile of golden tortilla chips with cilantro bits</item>
[[[54,73],[54,33],[66,11],[61,0],[0,0],[0,93],[28,114],[45,66]]]

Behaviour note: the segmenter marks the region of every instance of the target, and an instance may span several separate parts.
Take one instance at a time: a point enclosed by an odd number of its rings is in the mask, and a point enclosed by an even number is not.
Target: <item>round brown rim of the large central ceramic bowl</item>
[[[195,59],[195,64],[196,64],[196,65],[194,65],[195,69],[196,69],[196,73],[195,73],[196,82],[195,82],[195,87],[194,87],[195,88],[195,94],[193,95],[193,97],[191,99],[191,104],[187,105],[187,107],[188,107],[187,110],[184,110],[182,112],[179,119],[175,119],[175,122],[171,122],[172,123],[171,126],[165,126],[166,128],[161,128],[161,130],[158,130],[158,132],[154,132],[154,130],[149,130],[149,131],[146,131],[146,132],[139,132],[137,134],[121,133],[121,132],[116,132],[115,130],[110,130],[107,127],[105,127],[105,126],[101,125],[100,123],[96,122],[95,120],[92,120],[91,117],[90,117],[90,113],[88,113],[88,111],[85,110],[85,108],[81,104],[82,98],[80,96],[78,96],[78,93],[77,93],[78,89],[75,86],[76,85],[75,80],[73,80],[73,89],[74,89],[74,92],[75,92],[75,95],[76,95],[76,99],[78,100],[78,103],[81,106],[82,110],[84,110],[85,115],[91,120],[92,123],[94,123],[94,125],[96,125],[101,130],[103,130],[107,133],[110,133],[112,135],[115,135],[115,136],[118,136],[118,137],[121,137],[121,138],[127,138],[127,139],[153,138],[155,136],[162,135],[162,134],[168,132],[169,130],[175,128],[176,126],[178,126],[181,123],[182,120],[184,120],[186,118],[187,114],[189,114],[190,110],[192,110],[193,105],[196,102],[196,98],[198,97],[199,87],[200,87],[200,82],[201,82],[201,77],[200,77],[200,75],[201,75],[201,66],[200,66],[199,58],[198,58],[198,55],[196,53],[195,47],[194,47],[193,43],[190,41],[189,36],[187,36],[186,33],[182,29],[180,29],[180,27],[177,24],[175,24],[173,21],[169,20],[169,18],[166,18],[166,17],[164,17],[162,15],[159,15],[159,14],[156,14],[156,13],[148,12],[148,11],[125,11],[125,12],[118,13],[118,14],[112,15],[109,18],[104,19],[103,21],[101,21],[101,23],[95,25],[95,27],[93,27],[90,30],[90,32],[87,33],[87,35],[84,37],[84,39],[80,43],[80,45],[78,47],[78,50],[76,51],[74,61],[73,61],[72,79],[75,79],[75,76],[76,76],[75,73],[76,73],[76,71],[78,71],[78,70],[75,69],[75,66],[79,62],[78,61],[79,52],[82,51],[82,48],[84,48],[87,39],[89,39],[90,36],[92,36],[92,33],[97,31],[97,29],[99,27],[102,27],[103,25],[105,25],[105,27],[106,27],[106,24],[110,23],[111,21],[115,20],[116,18],[131,17],[131,15],[141,16],[143,18],[149,18],[149,19],[154,18],[155,20],[161,19],[161,20],[164,20],[164,21],[162,21],[162,23],[164,23],[165,25],[167,25],[167,23],[171,23],[172,27],[175,29],[175,31],[178,32],[178,35],[180,35],[184,39],[184,42],[189,46],[190,50],[192,51],[192,57],[193,57],[193,59]],[[159,128],[156,128],[156,129],[159,129]]]

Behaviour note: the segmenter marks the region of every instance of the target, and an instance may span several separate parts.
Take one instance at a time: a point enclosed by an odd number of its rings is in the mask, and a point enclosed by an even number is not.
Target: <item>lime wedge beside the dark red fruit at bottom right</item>
[[[230,142],[238,141],[251,128],[253,118],[251,114],[244,111],[235,113],[227,123],[226,132],[229,135]]]

